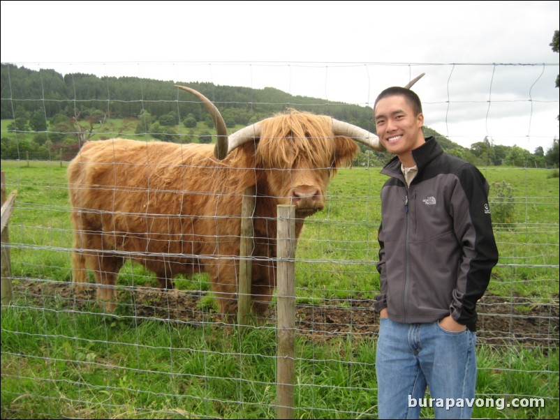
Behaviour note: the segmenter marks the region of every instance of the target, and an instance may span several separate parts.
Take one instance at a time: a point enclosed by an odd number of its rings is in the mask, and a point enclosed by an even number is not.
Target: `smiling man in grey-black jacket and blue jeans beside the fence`
[[[423,136],[413,91],[385,89],[374,117],[381,143],[395,155],[382,171],[390,179],[381,189],[375,302],[379,418],[418,419],[427,403],[436,419],[468,419],[476,302],[498,261],[489,186],[476,167]]]

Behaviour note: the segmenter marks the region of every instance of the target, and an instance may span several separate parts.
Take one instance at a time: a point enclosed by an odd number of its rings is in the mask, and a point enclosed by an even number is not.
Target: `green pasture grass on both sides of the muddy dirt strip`
[[[3,160],[1,168],[8,193],[17,190],[10,220],[14,283],[17,291],[28,290],[2,308],[2,418],[276,416],[273,320],[240,334],[212,322],[210,296],[198,308],[209,322],[189,324],[138,316],[136,306],[146,302],[135,298],[124,310],[105,315],[93,300],[77,303],[45,292],[53,289],[38,286],[64,290],[64,282],[71,281],[66,163],[30,161],[28,166]],[[341,170],[325,210],[307,220],[296,253],[299,303],[376,294],[378,192],[385,181],[379,170]],[[513,220],[494,225],[500,261],[488,292],[506,302],[522,297],[520,306],[527,310],[558,308],[558,178],[550,170],[489,167],[482,172],[491,185],[491,208],[499,205],[493,191],[500,182],[510,184],[514,203]],[[119,285],[156,283],[142,267],[126,264]],[[202,275],[180,279],[177,288],[190,294],[208,286]],[[339,304],[344,308],[330,303]],[[329,307],[320,310],[328,313]],[[552,345],[508,337],[503,345],[481,343],[477,349],[477,396],[506,402],[543,398],[545,406],[476,407],[474,418],[557,417],[558,331],[549,323],[546,343]],[[374,344],[374,334],[298,335],[295,416],[375,418]]]

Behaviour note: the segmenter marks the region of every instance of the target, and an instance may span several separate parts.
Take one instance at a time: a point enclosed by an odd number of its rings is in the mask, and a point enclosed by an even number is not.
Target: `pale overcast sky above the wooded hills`
[[[559,137],[559,1],[1,1],[1,61],[373,105],[422,99],[464,147]],[[533,66],[529,66],[533,64]]]

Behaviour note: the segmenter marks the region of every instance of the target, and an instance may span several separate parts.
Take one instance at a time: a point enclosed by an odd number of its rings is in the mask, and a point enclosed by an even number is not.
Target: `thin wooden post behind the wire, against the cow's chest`
[[[240,331],[248,324],[251,312],[251,280],[253,264],[253,211],[255,210],[255,187],[247,187],[241,202],[240,276],[237,285],[237,324]]]

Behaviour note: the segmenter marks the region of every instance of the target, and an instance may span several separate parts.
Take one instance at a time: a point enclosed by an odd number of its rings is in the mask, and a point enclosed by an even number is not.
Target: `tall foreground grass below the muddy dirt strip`
[[[275,331],[107,317],[17,301],[2,314],[3,418],[275,417]],[[374,338],[297,339],[297,418],[376,416]],[[478,398],[544,407],[476,407],[474,418],[551,419],[558,354],[478,347]],[[424,417],[433,416],[424,410]]]

